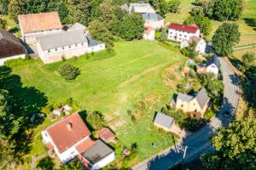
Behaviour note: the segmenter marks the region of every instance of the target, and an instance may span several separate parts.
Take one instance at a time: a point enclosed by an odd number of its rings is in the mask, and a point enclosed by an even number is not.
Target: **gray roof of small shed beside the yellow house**
[[[170,129],[172,127],[173,122],[174,122],[174,119],[172,116],[167,116],[160,112],[158,112],[154,118],[155,124],[158,124],[162,127],[166,127],[168,129]]]

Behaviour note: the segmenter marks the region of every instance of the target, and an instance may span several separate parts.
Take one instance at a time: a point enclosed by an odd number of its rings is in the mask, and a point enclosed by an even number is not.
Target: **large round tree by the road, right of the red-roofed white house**
[[[212,37],[212,48],[218,55],[229,55],[233,46],[239,42],[240,32],[236,23],[224,23],[218,27]]]

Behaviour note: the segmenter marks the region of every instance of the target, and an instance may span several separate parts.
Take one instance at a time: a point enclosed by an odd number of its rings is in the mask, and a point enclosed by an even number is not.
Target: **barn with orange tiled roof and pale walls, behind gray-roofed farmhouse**
[[[62,31],[57,12],[18,15],[23,40],[32,43],[36,37]]]

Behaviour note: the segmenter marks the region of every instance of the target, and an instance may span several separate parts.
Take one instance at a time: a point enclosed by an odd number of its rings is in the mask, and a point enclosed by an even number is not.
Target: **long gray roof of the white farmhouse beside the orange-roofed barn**
[[[87,42],[83,30],[61,31],[59,33],[38,37],[37,39],[41,48],[44,50]]]

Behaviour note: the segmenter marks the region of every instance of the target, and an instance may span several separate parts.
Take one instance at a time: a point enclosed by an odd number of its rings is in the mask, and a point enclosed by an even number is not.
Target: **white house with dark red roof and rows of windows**
[[[200,37],[200,29],[195,24],[184,26],[176,23],[172,23],[168,29],[167,39],[183,42],[188,41],[190,37]]]

